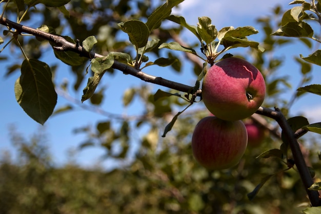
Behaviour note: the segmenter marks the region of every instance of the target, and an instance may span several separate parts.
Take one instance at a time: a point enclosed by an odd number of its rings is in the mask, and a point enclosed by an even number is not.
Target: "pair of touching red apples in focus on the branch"
[[[242,158],[248,133],[241,121],[262,105],[266,86],[262,73],[249,62],[228,57],[204,76],[202,98],[215,116],[200,120],[193,132],[196,161],[208,169],[226,169]]]

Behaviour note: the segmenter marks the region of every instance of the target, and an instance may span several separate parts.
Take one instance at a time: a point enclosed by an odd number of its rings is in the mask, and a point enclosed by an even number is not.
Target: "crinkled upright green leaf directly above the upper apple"
[[[213,42],[217,36],[217,30],[207,16],[198,17],[197,31],[206,44]]]

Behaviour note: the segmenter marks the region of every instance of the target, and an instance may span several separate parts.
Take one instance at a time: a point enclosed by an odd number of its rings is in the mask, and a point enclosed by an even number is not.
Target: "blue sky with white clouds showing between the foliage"
[[[197,17],[199,16],[209,16],[212,19],[212,24],[216,26],[217,29],[221,29],[226,26],[254,26],[259,28],[258,24],[255,23],[255,18],[262,15],[269,15],[271,9],[275,4],[282,5],[284,8],[288,7],[289,1],[194,1],[186,0],[179,5],[179,8],[173,10],[173,13],[182,15],[186,18],[187,23],[191,25],[196,25]],[[254,8],[254,9],[253,9]],[[38,27],[38,26],[30,26]],[[3,29],[3,28],[2,28]],[[260,34],[256,35],[259,36]],[[192,40],[191,35],[186,33],[182,36],[183,40],[189,41]],[[255,40],[255,37],[250,37],[250,39]],[[8,49],[6,51],[9,51]],[[246,51],[246,50],[245,50]],[[8,52],[5,52],[8,53]],[[291,55],[289,55],[291,53]],[[279,51],[279,54],[284,54],[287,56],[287,61],[284,65],[284,69],[280,72],[280,75],[289,75],[290,81],[293,85],[292,91],[289,91],[289,94],[295,91],[295,87],[298,83],[299,70],[297,64],[294,64],[292,59],[293,56],[298,56],[299,54],[308,55],[311,53],[311,50],[305,48],[296,47],[286,47],[283,50]],[[293,55],[292,55],[293,54]],[[0,54],[1,56],[1,54]],[[14,55],[12,55],[14,59]],[[48,55],[46,59],[42,59],[48,64],[56,63],[58,60],[54,59],[52,55]],[[17,62],[17,60],[14,60]],[[2,68],[8,66],[8,63],[0,62]],[[70,73],[66,72],[68,67],[63,64],[59,64],[59,69],[57,71],[57,80],[70,79]],[[195,82],[195,76],[193,76],[191,69],[188,68],[188,65],[185,65],[183,68],[184,72],[175,73],[170,72],[168,68],[158,68],[151,67],[144,70],[147,73],[152,75],[160,75],[172,81],[177,81],[180,83],[193,85]],[[312,83],[320,84],[321,72],[320,67],[314,67],[313,76],[314,79]],[[14,125],[17,128],[18,132],[21,132],[26,138],[30,137],[34,132],[36,132],[41,125],[34,122],[29,116],[22,110],[22,108],[17,104],[14,96],[14,82],[18,77],[18,73],[4,78],[3,74],[6,72],[6,69],[3,70],[2,75],[0,75],[0,93],[2,96],[2,105],[0,105],[1,112],[1,123],[0,123],[0,152],[5,150],[12,150],[12,146],[9,140],[8,127],[9,125]],[[116,72],[116,75],[113,77],[113,81],[108,81],[107,75],[104,76],[104,85],[106,85],[108,93],[105,98],[105,103],[103,105],[104,110],[110,113],[117,114],[128,114],[128,115],[137,115],[136,106],[140,104],[135,102],[129,108],[124,108],[122,105],[122,94],[127,87],[137,86],[139,87],[142,84],[142,81],[136,77],[124,75],[122,72]],[[59,81],[57,81],[59,82]],[[72,82],[70,82],[72,84]],[[86,84],[86,81],[85,83]],[[162,88],[157,85],[149,84],[153,89]],[[81,88],[84,88],[85,85],[82,85]],[[164,89],[164,88],[163,88]],[[117,93],[114,93],[117,92]],[[288,94],[288,95],[289,95]],[[71,94],[75,99],[81,100],[82,90],[79,90],[77,93]],[[61,96],[58,96],[57,107],[61,107],[67,104],[68,101]],[[86,102],[85,102],[86,104]],[[203,105],[200,103],[199,105]],[[203,107],[203,106],[202,106]],[[305,95],[303,98],[298,100],[293,105],[291,109],[292,113],[304,113],[309,119],[310,122],[321,121],[321,99],[317,95]],[[53,160],[57,164],[65,163],[68,160],[68,150],[76,148],[79,143],[82,143],[84,140],[84,135],[74,134],[72,130],[77,127],[82,127],[87,124],[94,126],[97,121],[105,120],[104,116],[89,112],[82,109],[81,107],[76,107],[74,111],[59,114],[52,116],[43,127],[48,134],[48,144],[50,151],[53,155]],[[139,135],[136,136],[139,138]],[[88,148],[83,150],[80,153],[76,153],[76,161],[83,166],[92,166],[95,163],[100,162],[99,157],[104,154],[103,149],[100,148]],[[0,153],[1,155],[1,153]],[[108,166],[110,162],[104,162],[104,166]]]

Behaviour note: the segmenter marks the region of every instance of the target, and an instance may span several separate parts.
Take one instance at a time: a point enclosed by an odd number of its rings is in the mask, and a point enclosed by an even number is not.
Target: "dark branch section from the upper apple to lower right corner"
[[[265,115],[265,116],[268,116],[269,118],[274,119],[279,124],[279,126],[282,128],[282,131],[284,133],[284,137],[290,145],[290,149],[292,151],[294,163],[295,163],[296,168],[300,174],[300,178],[304,184],[304,187],[305,187],[306,192],[308,194],[311,205],[312,206],[321,206],[321,200],[319,199],[318,191],[308,189],[309,187],[311,187],[311,185],[314,182],[313,182],[313,179],[312,179],[311,174],[309,172],[309,169],[307,167],[307,164],[304,160],[300,146],[295,138],[294,132],[292,131],[292,129],[291,129],[290,125],[288,124],[283,113],[278,108],[275,108],[275,110],[272,110],[272,109],[265,108],[265,107],[259,107],[259,109],[256,111],[256,113],[261,114],[261,115]]]

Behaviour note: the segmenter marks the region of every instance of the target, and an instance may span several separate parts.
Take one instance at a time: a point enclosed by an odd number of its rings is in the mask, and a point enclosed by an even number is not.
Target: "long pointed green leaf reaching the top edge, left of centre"
[[[157,8],[152,14],[148,17],[146,25],[148,29],[152,31],[160,26],[160,23],[164,18],[167,18],[171,12],[172,8],[177,6],[179,3],[182,3],[184,0],[167,0],[166,3],[159,8]]]

